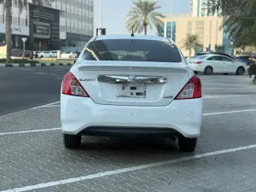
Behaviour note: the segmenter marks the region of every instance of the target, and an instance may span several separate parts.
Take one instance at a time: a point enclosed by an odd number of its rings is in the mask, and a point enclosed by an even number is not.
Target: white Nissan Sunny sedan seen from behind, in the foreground
[[[66,148],[82,136],[178,139],[195,150],[201,133],[201,80],[168,38],[100,36],[85,45],[61,84]]]

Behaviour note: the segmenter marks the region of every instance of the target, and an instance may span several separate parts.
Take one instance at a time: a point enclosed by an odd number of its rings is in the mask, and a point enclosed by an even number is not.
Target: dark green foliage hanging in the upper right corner
[[[208,0],[208,13],[220,10],[224,31],[230,33],[235,47],[256,45],[255,0]]]

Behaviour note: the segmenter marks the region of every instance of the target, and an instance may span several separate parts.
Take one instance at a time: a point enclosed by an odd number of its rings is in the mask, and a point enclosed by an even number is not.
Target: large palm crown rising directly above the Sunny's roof
[[[153,25],[159,33],[163,30],[161,27],[163,21],[160,19],[165,16],[157,11],[161,7],[156,2],[137,0],[133,4],[134,7],[131,8],[131,11],[127,15],[129,19],[126,21],[129,32],[141,33],[144,31],[144,34],[147,35],[148,26],[152,29]]]

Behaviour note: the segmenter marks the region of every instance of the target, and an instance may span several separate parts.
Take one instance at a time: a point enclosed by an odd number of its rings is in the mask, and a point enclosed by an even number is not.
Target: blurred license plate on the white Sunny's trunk
[[[117,84],[116,96],[146,98],[146,84]]]

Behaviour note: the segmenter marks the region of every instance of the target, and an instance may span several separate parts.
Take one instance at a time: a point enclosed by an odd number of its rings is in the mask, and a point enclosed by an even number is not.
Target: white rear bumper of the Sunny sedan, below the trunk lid
[[[202,98],[163,107],[100,105],[90,98],[61,94],[61,129],[71,135],[182,134],[199,137]]]

